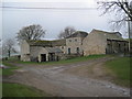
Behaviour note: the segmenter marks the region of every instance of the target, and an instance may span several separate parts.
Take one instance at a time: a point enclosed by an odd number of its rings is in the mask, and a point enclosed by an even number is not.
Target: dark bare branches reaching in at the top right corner
[[[103,1],[98,2],[99,9],[103,9],[103,13],[113,12],[118,19],[111,21],[114,29],[120,29],[127,21],[132,21],[132,7],[130,6],[129,0],[113,0],[113,1]]]

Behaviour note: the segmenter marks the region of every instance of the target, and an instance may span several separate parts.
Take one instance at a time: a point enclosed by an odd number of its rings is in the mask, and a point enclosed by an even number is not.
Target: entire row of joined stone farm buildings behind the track
[[[92,30],[89,34],[77,31],[70,36],[55,41],[22,41],[21,61],[51,62],[67,56],[112,54],[128,52],[129,42],[119,32]]]

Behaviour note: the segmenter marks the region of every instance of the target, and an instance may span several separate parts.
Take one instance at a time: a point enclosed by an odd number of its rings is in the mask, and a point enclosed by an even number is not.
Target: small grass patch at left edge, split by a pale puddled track
[[[16,67],[16,66],[8,63],[8,62],[3,62],[2,64],[9,67],[9,68],[2,69],[2,75],[3,75],[3,76],[10,76],[10,75],[14,74],[13,70],[15,70],[15,69],[19,68],[19,67]],[[0,72],[1,72],[1,69],[0,69]],[[1,74],[1,73],[0,73],[0,74]]]

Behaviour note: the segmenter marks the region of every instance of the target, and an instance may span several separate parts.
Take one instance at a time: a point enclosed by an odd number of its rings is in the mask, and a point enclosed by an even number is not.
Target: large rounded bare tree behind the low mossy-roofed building
[[[40,40],[41,37],[44,37],[44,35],[45,35],[45,30],[43,30],[40,24],[33,24],[33,25],[22,28],[19,31],[16,38],[18,41]]]

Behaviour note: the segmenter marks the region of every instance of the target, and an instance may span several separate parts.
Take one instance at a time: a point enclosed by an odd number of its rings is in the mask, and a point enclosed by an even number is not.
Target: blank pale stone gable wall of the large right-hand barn
[[[84,55],[106,54],[106,38],[98,33],[90,33],[82,41]]]

